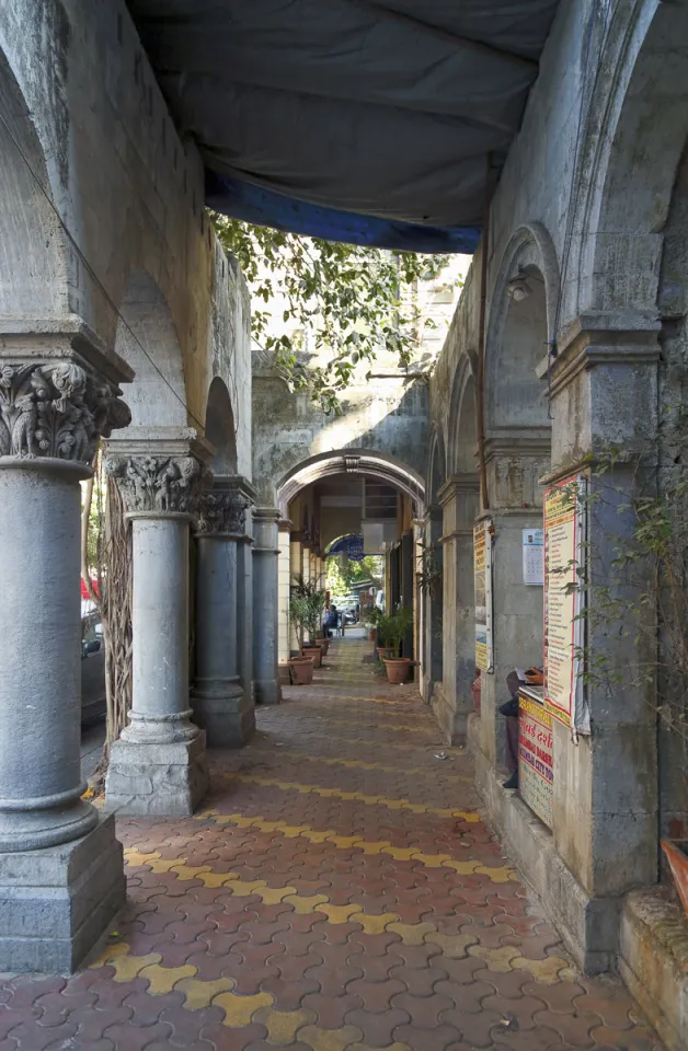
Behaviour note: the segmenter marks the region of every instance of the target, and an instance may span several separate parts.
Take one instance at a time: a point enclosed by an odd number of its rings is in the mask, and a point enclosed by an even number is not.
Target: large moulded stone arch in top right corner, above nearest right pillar
[[[663,232],[688,140],[688,5],[644,0],[610,25],[593,171],[578,206],[578,311],[656,320]],[[609,79],[611,78],[611,83]],[[590,150],[589,152],[593,152]]]

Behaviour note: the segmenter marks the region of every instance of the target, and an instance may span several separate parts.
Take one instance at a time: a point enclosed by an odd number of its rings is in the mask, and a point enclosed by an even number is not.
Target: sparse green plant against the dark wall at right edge
[[[586,643],[578,650],[584,681],[610,694],[642,688],[656,696],[662,723],[688,742],[688,466],[680,446],[664,446],[664,470],[652,443],[632,466],[628,451],[614,447],[589,459],[594,484],[578,496],[588,520],[586,556],[570,589],[586,599],[580,617],[587,634],[629,639],[635,655],[627,670]],[[618,467],[629,478],[623,488],[606,482]],[[624,522],[619,532],[610,529],[615,516]],[[607,565],[601,545],[612,552]]]

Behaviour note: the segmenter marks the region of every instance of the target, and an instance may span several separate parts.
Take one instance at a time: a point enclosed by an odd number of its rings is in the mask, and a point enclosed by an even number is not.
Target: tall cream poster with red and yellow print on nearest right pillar
[[[582,590],[584,505],[587,481],[562,478],[544,492],[544,706],[565,726],[577,725],[583,682]],[[581,727],[584,729],[584,727]]]

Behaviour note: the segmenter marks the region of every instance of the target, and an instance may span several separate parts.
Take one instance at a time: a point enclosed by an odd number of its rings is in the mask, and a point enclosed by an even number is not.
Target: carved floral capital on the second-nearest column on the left
[[[192,513],[209,476],[195,457],[110,457],[105,471],[130,512]]]

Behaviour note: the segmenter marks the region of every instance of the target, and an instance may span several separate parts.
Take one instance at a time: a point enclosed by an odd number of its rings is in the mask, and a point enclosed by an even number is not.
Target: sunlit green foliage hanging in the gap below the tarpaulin
[[[249,284],[253,337],[275,354],[291,390],[309,390],[323,412],[336,413],[360,361],[372,362],[386,348],[400,367],[411,362],[418,315],[408,293],[435,277],[448,256],[364,249],[219,215],[213,221]],[[278,296],[285,299],[280,319],[271,311]],[[303,351],[322,348],[326,365],[307,367]]]

